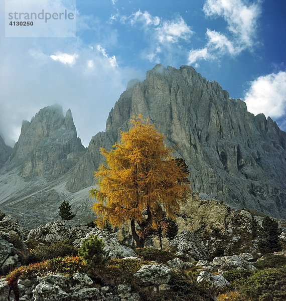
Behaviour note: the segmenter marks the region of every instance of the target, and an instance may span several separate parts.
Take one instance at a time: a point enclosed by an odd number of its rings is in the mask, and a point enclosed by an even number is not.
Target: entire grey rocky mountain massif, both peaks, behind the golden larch
[[[93,136],[87,148],[70,110],[64,116],[60,106],[49,106],[23,121],[10,160],[0,169],[0,209],[32,228],[54,221],[66,200],[75,222],[92,220],[88,190],[102,161],[99,148],[119,142],[120,131],[139,113],[159,125],[174,156],[185,159],[192,190],[202,199],[286,216],[286,133],[192,67],[162,65],[147,71],[146,80],[128,84],[105,132]]]

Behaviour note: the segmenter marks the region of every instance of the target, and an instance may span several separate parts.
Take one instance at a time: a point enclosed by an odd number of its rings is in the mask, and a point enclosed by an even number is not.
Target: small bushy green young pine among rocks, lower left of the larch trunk
[[[78,255],[83,258],[86,265],[91,268],[104,266],[109,257],[104,251],[104,244],[97,236],[90,236],[82,241],[82,245],[78,250]]]

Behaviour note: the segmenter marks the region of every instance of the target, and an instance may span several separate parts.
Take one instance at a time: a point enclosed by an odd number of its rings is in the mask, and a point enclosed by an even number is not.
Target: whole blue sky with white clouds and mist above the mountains
[[[193,66],[286,130],[284,0],[78,0],[72,38],[5,37],[4,1],[0,12],[0,132],[8,143],[23,119],[60,103],[87,146],[127,82],[144,80],[157,63]]]

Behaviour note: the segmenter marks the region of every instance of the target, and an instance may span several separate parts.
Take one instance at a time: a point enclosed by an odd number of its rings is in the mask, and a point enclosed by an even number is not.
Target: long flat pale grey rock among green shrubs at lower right
[[[213,259],[213,264],[218,268],[222,269],[246,269],[249,271],[256,270],[256,267],[246,260],[240,258],[237,255],[233,256],[223,256],[223,257],[215,257]]]

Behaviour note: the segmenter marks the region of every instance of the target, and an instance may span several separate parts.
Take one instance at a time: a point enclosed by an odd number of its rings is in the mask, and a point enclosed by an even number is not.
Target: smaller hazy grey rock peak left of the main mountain
[[[31,122],[23,121],[11,164],[22,164],[23,178],[44,176],[53,179],[74,167],[84,150],[71,111],[64,116],[62,107],[53,105],[41,109]]]

